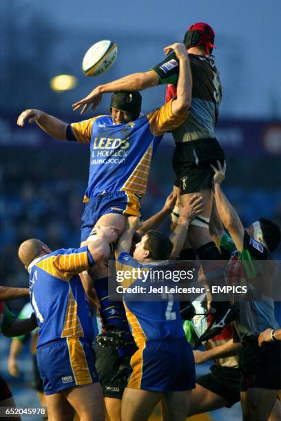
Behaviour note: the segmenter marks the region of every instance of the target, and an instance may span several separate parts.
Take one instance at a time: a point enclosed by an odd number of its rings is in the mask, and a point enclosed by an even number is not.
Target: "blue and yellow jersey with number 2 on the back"
[[[147,270],[152,267],[153,263],[143,266],[125,252],[116,260],[116,270],[132,272],[132,277],[126,272],[125,280],[122,282],[123,288],[140,286],[146,288],[146,293],[152,285],[149,278],[144,282],[144,279],[136,279],[133,272],[136,268]],[[127,320],[138,348],[143,348],[147,341],[185,336],[179,302],[174,301],[172,294],[161,298],[159,297],[157,301],[135,301],[136,294],[125,292],[123,295]]]

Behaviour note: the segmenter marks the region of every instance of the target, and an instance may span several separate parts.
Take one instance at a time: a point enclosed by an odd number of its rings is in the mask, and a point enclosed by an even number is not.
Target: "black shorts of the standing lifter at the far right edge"
[[[258,346],[258,336],[242,341],[240,352],[241,391],[250,387],[281,389],[281,341]]]

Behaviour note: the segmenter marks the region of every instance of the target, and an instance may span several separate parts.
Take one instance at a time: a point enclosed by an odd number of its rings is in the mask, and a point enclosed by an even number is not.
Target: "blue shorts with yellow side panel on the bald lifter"
[[[83,339],[67,338],[37,348],[37,363],[46,395],[98,382],[95,354]]]

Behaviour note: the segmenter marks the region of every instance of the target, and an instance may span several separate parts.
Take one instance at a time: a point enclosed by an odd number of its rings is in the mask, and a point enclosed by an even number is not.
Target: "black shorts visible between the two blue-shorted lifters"
[[[94,346],[96,352],[96,371],[103,388],[104,398],[122,399],[123,391],[127,386],[127,376],[112,382],[121,365],[121,358],[115,347]]]

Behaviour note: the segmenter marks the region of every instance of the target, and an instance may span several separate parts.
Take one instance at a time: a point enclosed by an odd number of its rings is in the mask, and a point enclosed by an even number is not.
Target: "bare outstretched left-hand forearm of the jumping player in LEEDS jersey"
[[[44,113],[40,109],[25,109],[19,115],[17,125],[23,127],[26,121],[29,123],[36,122],[43,131],[53,138],[66,140],[67,123]]]

